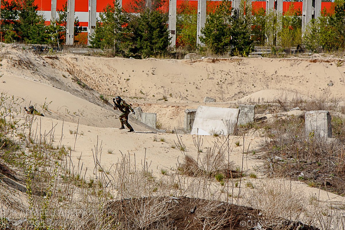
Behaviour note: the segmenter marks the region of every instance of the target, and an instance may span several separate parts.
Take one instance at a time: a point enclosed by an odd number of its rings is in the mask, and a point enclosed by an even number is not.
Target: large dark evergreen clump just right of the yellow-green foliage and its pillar
[[[231,16],[231,2],[222,1],[214,13],[206,19],[201,30],[204,38],[200,38],[206,47],[215,53],[235,52],[247,55],[252,49],[250,27],[244,17],[236,19],[236,13]]]

